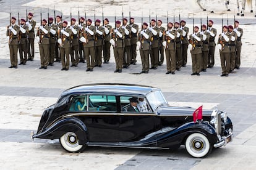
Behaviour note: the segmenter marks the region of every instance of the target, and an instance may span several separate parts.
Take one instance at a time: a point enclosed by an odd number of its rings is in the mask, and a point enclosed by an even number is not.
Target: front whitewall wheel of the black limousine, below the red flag
[[[186,139],[185,147],[187,152],[195,158],[202,158],[212,150],[207,137],[199,133],[190,134]]]

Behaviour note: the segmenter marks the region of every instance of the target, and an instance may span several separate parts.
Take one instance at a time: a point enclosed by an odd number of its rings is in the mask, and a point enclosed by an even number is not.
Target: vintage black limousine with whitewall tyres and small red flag
[[[143,105],[139,109],[139,105]],[[132,108],[135,110],[132,110]],[[59,139],[68,152],[87,146],[178,148],[201,158],[233,140],[226,112],[172,107],[156,87],[85,84],[62,92],[46,108],[32,138]]]

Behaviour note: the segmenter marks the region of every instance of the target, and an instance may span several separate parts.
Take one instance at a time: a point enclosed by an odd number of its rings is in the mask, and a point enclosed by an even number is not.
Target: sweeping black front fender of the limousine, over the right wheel
[[[208,122],[190,122],[173,129],[173,131],[159,134],[156,137],[158,147],[179,147],[179,145],[184,144],[187,136],[195,132],[205,135],[211,145],[217,141],[216,131]]]

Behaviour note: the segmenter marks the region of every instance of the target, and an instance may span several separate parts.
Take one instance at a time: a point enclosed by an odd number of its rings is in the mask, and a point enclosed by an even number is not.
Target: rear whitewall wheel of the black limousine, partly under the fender
[[[59,139],[59,143],[68,152],[82,152],[86,147],[86,145],[79,145],[79,139],[74,132],[66,132]]]

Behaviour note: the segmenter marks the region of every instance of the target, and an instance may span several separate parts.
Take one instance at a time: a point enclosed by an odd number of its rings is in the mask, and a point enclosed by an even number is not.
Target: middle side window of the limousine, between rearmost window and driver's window
[[[117,111],[116,96],[114,95],[89,95],[89,111]]]

